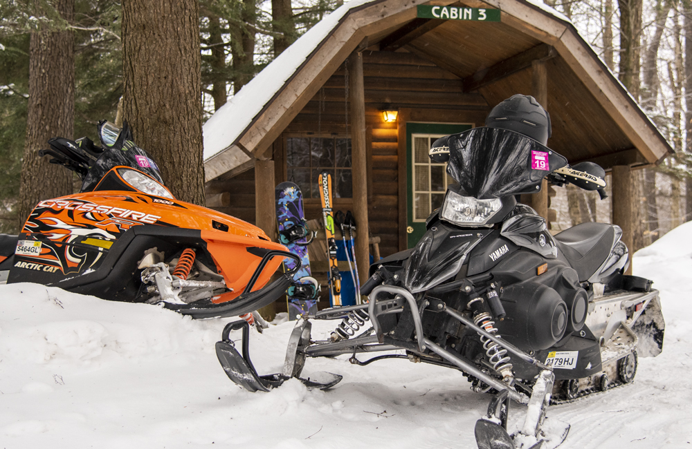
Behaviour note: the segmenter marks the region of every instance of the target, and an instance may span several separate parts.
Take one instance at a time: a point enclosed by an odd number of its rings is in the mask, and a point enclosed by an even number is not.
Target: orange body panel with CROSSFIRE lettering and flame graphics
[[[162,238],[167,233],[173,238],[179,231],[187,232],[190,245],[208,251],[226,285],[233,289],[214,302],[239,296],[268,251],[286,251],[283,245],[271,242],[262,229],[224,213],[122,191],[86,192],[42,201],[30,214],[20,238],[43,242],[34,262],[54,266],[51,273],[69,278],[98,270],[123,236],[151,225],[161,228]],[[267,263],[253,291],[268,282],[281,262],[282,258],[274,257]]]

